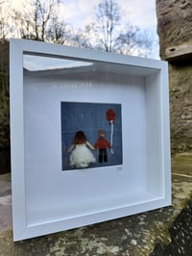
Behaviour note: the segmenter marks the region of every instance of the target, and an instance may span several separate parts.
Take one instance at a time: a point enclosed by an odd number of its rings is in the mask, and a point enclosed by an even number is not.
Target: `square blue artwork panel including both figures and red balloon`
[[[61,102],[60,114],[62,170],[123,164],[121,104]]]

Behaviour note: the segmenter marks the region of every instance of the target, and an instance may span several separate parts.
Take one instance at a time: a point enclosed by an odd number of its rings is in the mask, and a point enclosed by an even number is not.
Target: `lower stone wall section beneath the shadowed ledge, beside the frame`
[[[169,64],[172,152],[192,150],[192,60]]]

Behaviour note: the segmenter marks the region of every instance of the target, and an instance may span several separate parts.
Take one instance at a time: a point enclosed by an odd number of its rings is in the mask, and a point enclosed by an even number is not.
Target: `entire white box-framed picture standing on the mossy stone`
[[[171,204],[167,63],[11,40],[13,240]]]

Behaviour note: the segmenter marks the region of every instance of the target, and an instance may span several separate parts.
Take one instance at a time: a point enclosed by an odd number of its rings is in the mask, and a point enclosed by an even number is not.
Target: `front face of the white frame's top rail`
[[[69,57],[84,61],[95,60],[98,62],[107,62],[111,64],[128,64],[132,66],[143,68],[147,67],[152,69],[161,69],[162,65],[167,63],[166,61],[162,60],[123,55],[118,53],[100,51],[96,49],[68,46],[45,41],[12,38],[12,42],[16,43],[17,46],[23,50],[24,53],[36,53],[36,55],[52,56],[57,58]],[[47,47],[49,48],[49,51],[46,50]]]

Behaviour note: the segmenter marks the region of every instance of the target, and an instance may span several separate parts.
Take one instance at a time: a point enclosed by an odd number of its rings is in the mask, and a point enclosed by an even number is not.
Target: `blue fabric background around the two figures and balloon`
[[[113,154],[108,149],[108,162],[99,163],[99,151],[92,151],[97,162],[89,167],[98,166],[117,166],[123,164],[122,159],[122,116],[121,104],[110,103],[79,103],[79,102],[61,102],[61,153],[62,170],[69,170],[69,156],[67,152],[77,131],[82,130],[93,146],[99,138],[98,131],[106,131],[106,139],[110,141],[111,124],[107,118],[107,112],[112,109],[115,114],[113,126]],[[74,167],[73,167],[74,169]]]

